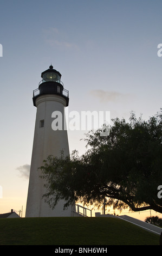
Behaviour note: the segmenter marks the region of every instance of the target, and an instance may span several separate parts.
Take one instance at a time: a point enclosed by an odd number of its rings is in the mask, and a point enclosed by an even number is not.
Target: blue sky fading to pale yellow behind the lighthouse
[[[161,9],[159,0],[1,0],[0,214],[25,214],[33,90],[50,64],[69,90],[68,113],[109,111],[128,120],[134,111],[147,120],[160,110]],[[68,130],[70,152],[85,153],[84,133]]]

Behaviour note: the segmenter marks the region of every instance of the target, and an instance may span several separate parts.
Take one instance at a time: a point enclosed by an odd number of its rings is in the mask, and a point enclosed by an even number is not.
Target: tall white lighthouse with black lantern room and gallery
[[[64,200],[60,200],[52,209],[42,198],[46,188],[44,180],[40,178],[41,169],[38,168],[43,165],[43,160],[49,155],[60,157],[62,150],[64,156],[69,156],[67,130],[52,129],[51,126],[55,111],[59,111],[65,121],[64,108],[68,106],[69,93],[63,87],[60,72],[52,65],[42,72],[41,77],[38,88],[33,91],[33,104],[37,111],[25,217],[73,216],[71,206],[63,210]]]

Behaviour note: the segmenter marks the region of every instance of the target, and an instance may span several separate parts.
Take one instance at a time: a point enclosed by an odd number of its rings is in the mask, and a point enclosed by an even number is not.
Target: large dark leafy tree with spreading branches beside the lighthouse
[[[100,136],[105,126],[86,135],[90,149],[82,156],[74,150],[70,157],[44,160],[44,198],[51,207],[60,199],[65,208],[77,200],[101,206],[106,198],[113,209],[162,213],[162,109],[148,121],[132,112],[129,122],[112,122],[108,136]]]

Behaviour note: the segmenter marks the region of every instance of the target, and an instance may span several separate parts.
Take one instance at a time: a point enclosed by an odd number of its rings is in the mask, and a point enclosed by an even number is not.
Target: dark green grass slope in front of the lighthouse
[[[159,245],[159,237],[118,218],[0,219],[0,245]]]

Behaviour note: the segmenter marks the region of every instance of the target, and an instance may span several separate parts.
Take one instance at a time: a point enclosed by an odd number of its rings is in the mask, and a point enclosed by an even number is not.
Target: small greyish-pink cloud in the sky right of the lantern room
[[[104,90],[92,90],[90,94],[94,97],[98,97],[100,102],[126,100],[131,95],[123,94],[115,91],[104,91]]]

